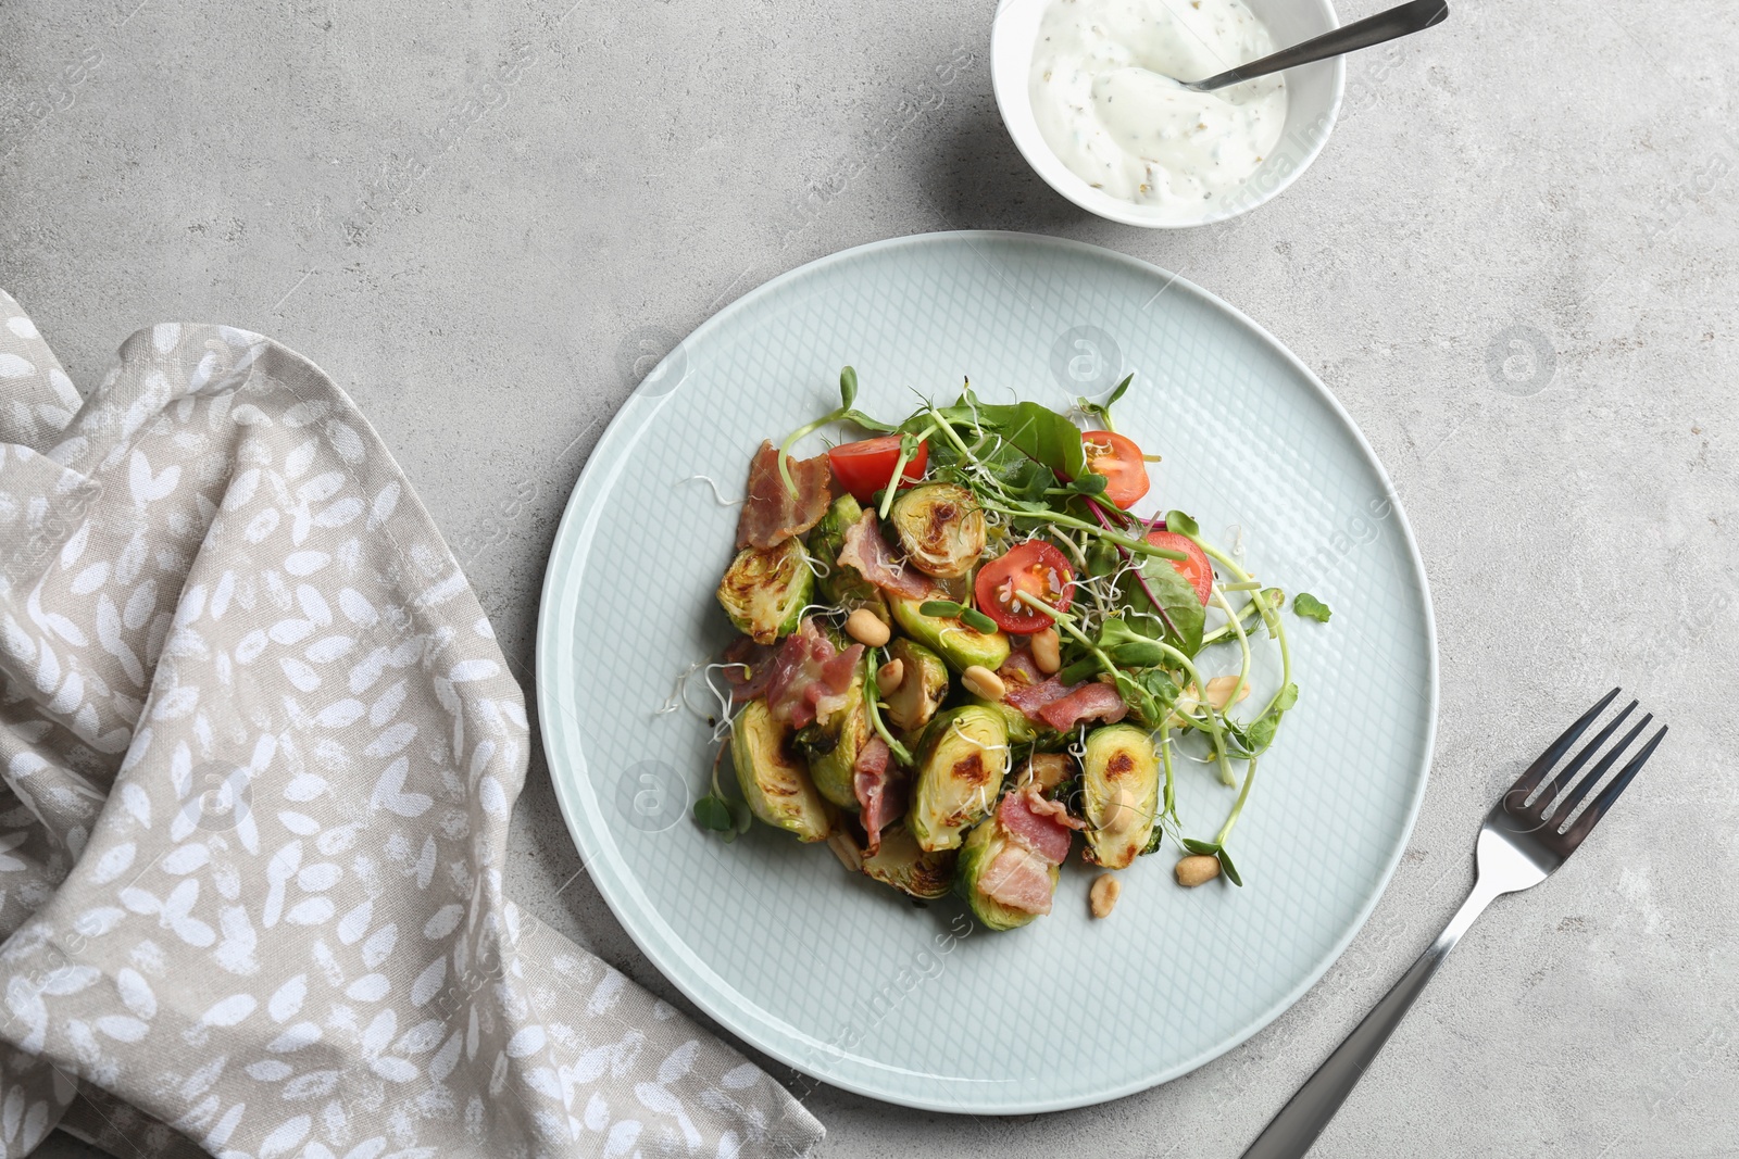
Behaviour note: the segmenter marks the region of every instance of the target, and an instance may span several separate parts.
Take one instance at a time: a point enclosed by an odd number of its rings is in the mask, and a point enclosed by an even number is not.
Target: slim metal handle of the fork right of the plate
[[[1365,1070],[1376,1060],[1383,1044],[1389,1041],[1389,1036],[1395,1034],[1395,1027],[1412,1010],[1414,1001],[1424,990],[1424,983],[1443,964],[1443,957],[1456,947],[1461,935],[1468,931],[1473,919],[1485,912],[1492,898],[1501,893],[1502,890],[1489,886],[1483,881],[1475,883],[1473,893],[1461,904],[1456,916],[1449,919],[1436,942],[1383,996],[1383,1001],[1365,1015],[1365,1020],[1346,1036],[1346,1041],[1334,1048],[1334,1053],[1299,1088],[1292,1102],[1282,1107],[1268,1128],[1256,1136],[1250,1149],[1243,1152],[1243,1159],[1303,1159],[1309,1152],[1316,1136],[1329,1126],[1329,1119],[1341,1109],[1346,1096],[1353,1093],[1358,1081],[1365,1077]]]

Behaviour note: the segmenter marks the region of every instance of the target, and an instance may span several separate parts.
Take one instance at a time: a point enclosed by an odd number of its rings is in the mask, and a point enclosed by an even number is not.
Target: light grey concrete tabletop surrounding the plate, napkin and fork
[[[556,518],[636,375],[769,276],[929,229],[1096,242],[1250,313],[1351,410],[1429,568],[1429,794],[1315,990],[1089,1110],[817,1089],[826,1156],[1236,1156],[1454,911],[1522,758],[1614,683],[1666,747],[1569,871],[1473,930],[1316,1154],[1736,1154],[1730,0],[1452,0],[1353,59],[1290,191],[1188,233],[1099,222],[1026,170],[986,0],[569,3],[0,0],[0,285],[85,386],[160,320],[325,367],[527,686]],[[676,999],[576,872],[537,759],[511,891]]]

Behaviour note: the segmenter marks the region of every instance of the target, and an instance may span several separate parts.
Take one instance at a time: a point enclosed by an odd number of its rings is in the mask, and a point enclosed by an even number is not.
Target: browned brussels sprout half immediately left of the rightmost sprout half
[[[943,712],[918,749],[918,787],[906,824],[925,850],[953,850],[996,805],[1009,772],[1009,726],[977,704]]]

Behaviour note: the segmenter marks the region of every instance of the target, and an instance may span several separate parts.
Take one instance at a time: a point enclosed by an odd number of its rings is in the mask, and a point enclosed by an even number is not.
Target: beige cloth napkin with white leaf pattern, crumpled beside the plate
[[[821,1124],[501,891],[518,685],[355,403],[0,294],[0,1156],[798,1156]]]

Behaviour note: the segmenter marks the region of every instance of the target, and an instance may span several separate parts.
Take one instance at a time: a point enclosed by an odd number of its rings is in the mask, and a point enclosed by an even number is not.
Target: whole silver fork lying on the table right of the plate
[[[1551,742],[1549,749],[1541,752],[1537,761],[1529,765],[1522,778],[1492,806],[1492,811],[1485,817],[1485,825],[1480,829],[1480,843],[1476,846],[1478,879],[1473,884],[1473,893],[1456,911],[1456,916],[1449,921],[1443,933],[1438,935],[1436,942],[1431,944],[1431,949],[1419,956],[1419,961],[1402,975],[1395,989],[1377,1003],[1376,1010],[1365,1015],[1358,1029],[1346,1036],[1346,1041],[1329,1055],[1329,1060],[1316,1069],[1316,1074],[1299,1088],[1292,1102],[1282,1107],[1268,1128],[1256,1136],[1250,1149],[1243,1152],[1243,1159],[1301,1159],[1316,1142],[1316,1136],[1322,1135],[1322,1129],[1329,1126],[1329,1119],[1341,1109],[1346,1096],[1358,1086],[1358,1079],[1363,1077],[1365,1069],[1370,1067],[1377,1051],[1395,1034],[1395,1027],[1400,1025],[1402,1018],[1412,1008],[1414,999],[1424,990],[1424,983],[1443,964],[1443,956],[1454,949],[1461,935],[1473,924],[1473,919],[1492,904],[1492,898],[1504,893],[1516,893],[1544,881],[1558,865],[1563,865],[1565,858],[1600,824],[1600,818],[1607,815],[1607,810],[1619,799],[1619,794],[1624,792],[1631,778],[1654,756],[1661,737],[1666,735],[1666,726],[1662,725],[1607,787],[1600,791],[1600,796],[1581,815],[1576,813],[1577,806],[1612,772],[1612,766],[1624,756],[1636,737],[1649,728],[1649,721],[1654,719],[1652,714],[1645,714],[1624,733],[1622,740],[1607,749],[1605,756],[1600,758],[1586,777],[1577,780],[1577,775],[1588,768],[1589,759],[1605,747],[1612,733],[1619,730],[1619,725],[1636,707],[1635,700],[1624,705],[1624,711],[1602,728],[1549,784],[1544,787],[1541,784],[1617,695],[1619,690],[1614,688],[1602,697],[1600,704],[1588,709],[1562,737]]]

